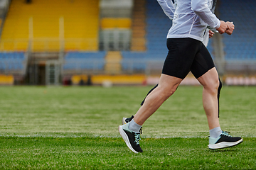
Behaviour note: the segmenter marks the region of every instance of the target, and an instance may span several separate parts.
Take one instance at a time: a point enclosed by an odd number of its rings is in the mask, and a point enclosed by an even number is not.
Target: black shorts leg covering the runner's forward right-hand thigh
[[[196,54],[191,65],[191,72],[198,79],[210,69],[215,67],[212,57],[205,45],[202,44],[201,49]]]

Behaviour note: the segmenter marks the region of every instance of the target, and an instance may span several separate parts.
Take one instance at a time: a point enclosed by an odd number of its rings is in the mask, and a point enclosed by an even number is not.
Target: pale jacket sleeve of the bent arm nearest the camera
[[[210,11],[207,0],[191,0],[191,8],[208,26],[220,27],[220,20]]]

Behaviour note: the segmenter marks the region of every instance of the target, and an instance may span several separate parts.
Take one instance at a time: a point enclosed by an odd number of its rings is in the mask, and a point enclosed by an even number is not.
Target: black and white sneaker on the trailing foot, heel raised
[[[119,125],[118,127],[119,133],[122,136],[124,142],[126,143],[127,147],[132,150],[132,152],[143,152],[142,148],[139,146],[139,140],[141,139],[140,133],[129,130],[128,126],[129,123]]]

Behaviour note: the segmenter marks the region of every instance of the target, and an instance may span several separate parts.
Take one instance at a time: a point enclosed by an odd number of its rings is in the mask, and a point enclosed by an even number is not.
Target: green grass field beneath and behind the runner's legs
[[[0,169],[256,169],[256,87],[224,86],[220,124],[244,142],[208,149],[201,86],[180,86],[143,125],[144,152],[119,137],[151,86],[0,86]]]

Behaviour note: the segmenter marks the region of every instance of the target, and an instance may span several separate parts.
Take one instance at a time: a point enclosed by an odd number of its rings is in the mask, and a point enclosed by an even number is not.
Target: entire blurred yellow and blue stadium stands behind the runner
[[[218,2],[219,18],[235,23],[232,36],[221,35],[225,45],[225,68],[256,70],[256,36],[253,30],[256,26],[253,18],[256,2]],[[126,14],[122,14],[123,9],[117,13],[108,8],[100,8],[99,4],[100,0],[33,0],[29,4],[26,1],[12,0],[6,18],[0,18],[0,22],[4,23],[0,42],[0,74],[25,74],[28,50],[41,54],[55,52],[58,57],[48,58],[58,61],[63,59],[64,75],[148,74],[151,72],[148,70],[154,72],[154,69],[161,69],[168,52],[166,34],[171,27],[171,20],[157,1],[134,0],[133,8],[127,8]],[[110,11],[112,14],[108,15]],[[127,11],[132,11],[132,15]],[[107,50],[101,48],[103,32],[109,38]],[[112,38],[117,33],[117,38]],[[216,41],[213,44],[210,39],[208,50],[213,59],[218,60],[214,56],[218,48],[213,45],[216,45]],[[63,52],[63,57],[60,57],[60,51]],[[234,67],[233,63],[238,65]],[[237,82],[235,78],[231,78],[227,78],[228,84]],[[2,77],[1,80],[3,79],[7,78]],[[247,82],[251,83],[247,84],[254,84],[255,80],[250,80]]]

